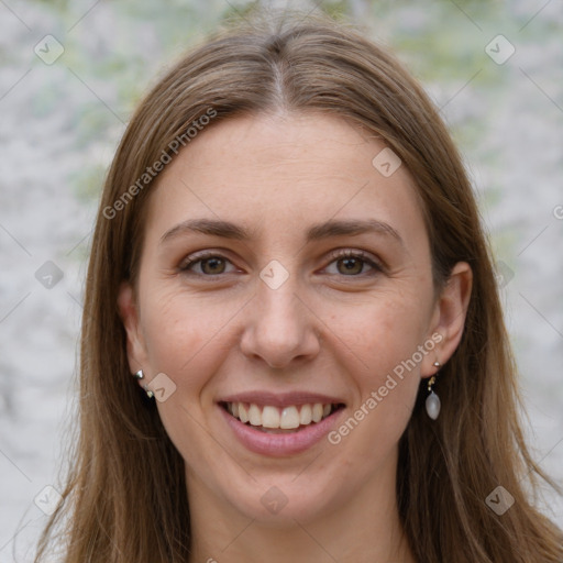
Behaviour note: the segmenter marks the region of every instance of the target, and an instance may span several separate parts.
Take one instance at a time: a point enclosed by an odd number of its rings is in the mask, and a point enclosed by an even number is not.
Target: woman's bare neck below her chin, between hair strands
[[[284,517],[282,509],[278,519],[264,521],[243,515],[188,472],[189,563],[416,563],[399,520],[395,473],[373,481],[314,517]]]

